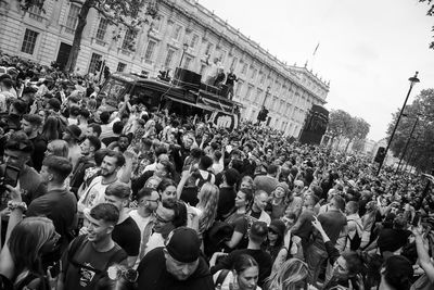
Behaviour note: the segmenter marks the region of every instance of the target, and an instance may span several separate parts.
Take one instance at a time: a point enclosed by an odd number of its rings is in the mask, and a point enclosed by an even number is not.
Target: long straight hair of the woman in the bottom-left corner
[[[40,250],[54,231],[53,222],[47,217],[27,217],[15,226],[8,242],[15,264],[14,278],[25,270],[43,276]]]

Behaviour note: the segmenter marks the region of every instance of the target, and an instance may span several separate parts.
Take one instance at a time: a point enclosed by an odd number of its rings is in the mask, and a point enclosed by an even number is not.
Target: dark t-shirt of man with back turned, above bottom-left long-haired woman
[[[71,230],[77,213],[75,196],[65,189],[51,190],[35,199],[26,212],[26,216],[47,216],[53,220],[55,231],[62,237]]]

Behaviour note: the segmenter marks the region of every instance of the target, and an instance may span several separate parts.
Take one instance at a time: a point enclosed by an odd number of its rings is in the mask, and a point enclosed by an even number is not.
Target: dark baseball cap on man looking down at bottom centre
[[[192,263],[199,259],[201,241],[194,229],[179,227],[174,229],[166,241],[169,255],[181,263]]]

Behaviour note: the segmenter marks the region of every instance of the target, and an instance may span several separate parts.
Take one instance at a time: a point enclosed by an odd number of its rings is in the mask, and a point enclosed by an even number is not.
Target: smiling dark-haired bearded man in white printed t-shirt
[[[78,214],[81,217],[85,209],[104,202],[105,189],[117,180],[117,173],[125,164],[125,157],[119,152],[107,151],[101,164],[101,175],[93,178],[90,185],[78,192]]]

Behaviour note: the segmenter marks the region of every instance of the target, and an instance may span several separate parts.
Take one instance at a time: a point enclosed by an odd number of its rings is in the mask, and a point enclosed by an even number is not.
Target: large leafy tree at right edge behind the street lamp
[[[393,114],[392,122],[388,124],[387,135],[392,135],[396,124],[399,110]],[[418,169],[426,172],[433,169],[434,162],[434,89],[422,90],[411,104],[406,105],[399,125],[396,128],[394,139],[391,142],[391,150],[396,157]],[[416,123],[417,122],[417,123]],[[410,139],[410,133],[414,126],[414,131]],[[406,144],[409,141],[407,151]]]

